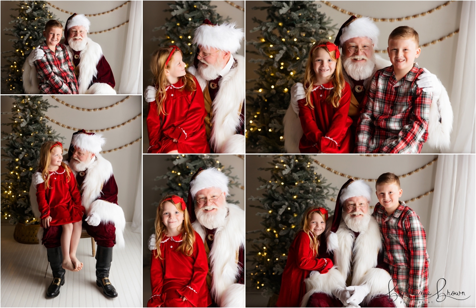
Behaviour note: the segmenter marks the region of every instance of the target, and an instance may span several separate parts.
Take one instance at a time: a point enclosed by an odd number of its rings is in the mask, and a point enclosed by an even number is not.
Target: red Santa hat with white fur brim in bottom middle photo
[[[199,168],[197,172],[195,172],[190,180],[187,198],[187,211],[188,215],[190,215],[191,222],[196,220],[195,204],[193,203],[196,193],[205,188],[215,187],[220,189],[225,193],[225,196],[227,196],[228,183],[228,177],[214,167],[208,169]]]

